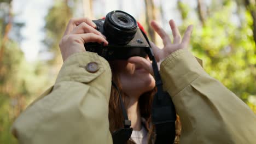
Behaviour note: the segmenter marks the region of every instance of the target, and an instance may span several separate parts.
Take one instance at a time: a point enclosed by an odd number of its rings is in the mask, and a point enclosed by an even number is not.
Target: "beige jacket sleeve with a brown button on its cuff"
[[[96,62],[91,73],[86,65]],[[94,67],[95,68],[95,67]],[[41,95],[11,128],[20,143],[112,143],[108,122],[111,71],[96,53],[70,56],[54,87]]]

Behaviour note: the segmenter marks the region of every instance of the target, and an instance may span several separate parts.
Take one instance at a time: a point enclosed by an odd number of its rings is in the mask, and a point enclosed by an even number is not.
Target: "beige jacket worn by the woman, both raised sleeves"
[[[96,72],[86,69],[96,62]],[[95,70],[95,67],[92,68]],[[182,122],[181,143],[256,143],[256,116],[234,93],[209,76],[188,50],[161,64],[160,75]],[[76,53],[53,87],[16,119],[20,143],[112,143],[108,101],[111,71],[96,53]]]

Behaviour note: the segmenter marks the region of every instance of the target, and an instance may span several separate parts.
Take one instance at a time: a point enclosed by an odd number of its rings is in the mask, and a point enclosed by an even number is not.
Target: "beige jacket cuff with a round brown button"
[[[97,67],[96,71],[86,69],[89,63],[94,63]],[[95,65],[96,63],[96,65]],[[109,63],[95,52],[79,52],[69,56],[63,63],[56,83],[61,81],[77,81],[88,83],[96,79],[102,73],[107,73],[111,76]]]

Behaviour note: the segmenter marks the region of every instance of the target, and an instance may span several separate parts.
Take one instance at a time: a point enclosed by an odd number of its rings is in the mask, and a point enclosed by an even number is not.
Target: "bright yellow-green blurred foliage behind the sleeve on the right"
[[[249,97],[256,97],[256,48],[251,14],[246,10],[234,14],[237,5],[233,1],[212,5],[215,6],[209,8],[211,12],[205,26],[199,25],[200,20],[188,16],[183,19],[185,25],[181,29],[184,31],[193,22],[191,46],[195,56],[203,60],[208,74],[249,103]],[[238,16],[238,23],[232,22],[235,16]]]

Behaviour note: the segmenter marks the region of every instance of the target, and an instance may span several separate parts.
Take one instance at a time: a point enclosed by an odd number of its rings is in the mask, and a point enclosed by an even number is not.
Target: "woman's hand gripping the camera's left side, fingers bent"
[[[74,53],[85,52],[84,43],[103,42],[108,45],[106,37],[95,28],[95,23],[88,18],[69,20],[59,44],[63,62]]]

